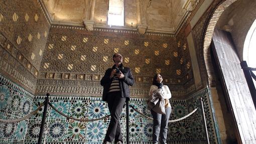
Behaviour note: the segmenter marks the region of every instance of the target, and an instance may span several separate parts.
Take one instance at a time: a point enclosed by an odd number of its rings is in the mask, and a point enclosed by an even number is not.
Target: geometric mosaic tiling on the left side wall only
[[[0,117],[19,119],[32,110],[33,95],[0,75]],[[17,123],[0,123],[0,142],[24,142],[29,119]]]

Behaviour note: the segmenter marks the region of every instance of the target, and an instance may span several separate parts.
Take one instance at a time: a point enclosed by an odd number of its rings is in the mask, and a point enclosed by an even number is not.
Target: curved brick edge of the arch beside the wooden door
[[[237,0],[226,0],[222,2],[213,12],[212,16],[210,17],[208,23],[206,25],[206,30],[204,33],[204,38],[203,38],[203,58],[204,58],[204,63],[206,67],[206,73],[208,75],[208,84],[209,87],[212,87],[215,85],[215,80],[214,80],[214,70],[212,66],[211,59],[209,58],[210,56],[210,44],[211,44],[211,39],[213,35],[214,28],[221,16],[221,14],[226,10],[227,7],[229,7],[231,4],[233,4]]]

